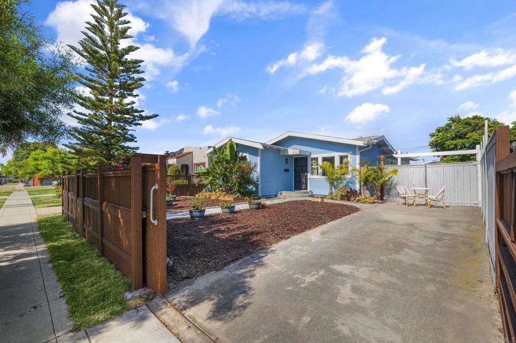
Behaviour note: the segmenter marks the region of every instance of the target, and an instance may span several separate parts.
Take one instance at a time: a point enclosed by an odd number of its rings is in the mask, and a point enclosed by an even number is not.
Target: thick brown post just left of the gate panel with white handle
[[[131,232],[133,233],[133,247],[131,257],[133,259],[133,289],[143,286],[143,239],[142,239],[142,168],[141,156],[131,156]],[[149,215],[149,214],[147,214]]]

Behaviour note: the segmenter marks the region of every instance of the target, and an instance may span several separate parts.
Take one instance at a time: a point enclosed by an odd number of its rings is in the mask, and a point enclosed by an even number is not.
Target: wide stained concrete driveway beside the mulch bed
[[[167,299],[220,342],[490,342],[501,328],[478,208],[368,205]]]

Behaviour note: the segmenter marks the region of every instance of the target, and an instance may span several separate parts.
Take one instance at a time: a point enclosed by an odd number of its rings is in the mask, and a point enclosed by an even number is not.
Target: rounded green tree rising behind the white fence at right
[[[456,115],[449,117],[445,125],[430,133],[431,140],[428,142],[428,146],[433,151],[475,149],[476,145],[482,142],[485,120],[488,121],[488,133],[490,135],[498,126],[504,125],[494,118],[481,115],[465,118]],[[475,161],[475,159],[474,155],[443,156],[441,162],[467,162]]]

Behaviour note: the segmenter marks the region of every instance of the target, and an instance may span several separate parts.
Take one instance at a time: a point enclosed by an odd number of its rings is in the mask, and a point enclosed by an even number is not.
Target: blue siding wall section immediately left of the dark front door
[[[288,158],[288,163],[285,159]],[[292,191],[294,164],[291,156],[280,155],[279,150],[265,148],[261,152],[262,196],[273,196],[278,191]],[[285,169],[288,169],[286,172]]]

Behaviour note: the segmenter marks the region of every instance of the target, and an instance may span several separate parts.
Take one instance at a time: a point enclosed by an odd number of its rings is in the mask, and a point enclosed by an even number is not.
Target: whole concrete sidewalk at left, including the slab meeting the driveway
[[[19,185],[0,209],[0,342],[180,342],[146,305],[71,332],[74,323],[35,220]]]

